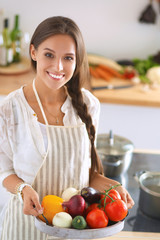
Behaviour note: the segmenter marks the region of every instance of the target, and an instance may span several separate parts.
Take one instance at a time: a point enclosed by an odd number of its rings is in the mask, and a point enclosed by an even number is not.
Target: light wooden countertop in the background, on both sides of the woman
[[[13,90],[18,89],[24,84],[30,83],[35,76],[33,70],[29,70],[23,74],[0,74],[0,95],[6,95]],[[122,81],[113,79],[111,82],[104,80],[91,79],[91,83],[86,86],[104,86],[108,84],[126,85],[130,81]],[[102,103],[126,104],[136,106],[160,107],[160,87],[143,91],[143,85],[136,84],[130,88],[116,89],[116,90],[94,90],[93,94]]]

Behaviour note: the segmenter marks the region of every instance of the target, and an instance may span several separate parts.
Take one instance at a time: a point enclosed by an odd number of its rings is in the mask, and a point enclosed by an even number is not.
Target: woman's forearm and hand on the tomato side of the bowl
[[[111,186],[117,184],[119,184],[119,182],[98,173],[94,173],[90,181],[90,187],[93,187],[100,192],[103,192],[105,189],[109,189]],[[121,198],[127,204],[127,207],[132,208],[134,201],[128,191],[123,186],[116,187],[116,190],[120,193]]]

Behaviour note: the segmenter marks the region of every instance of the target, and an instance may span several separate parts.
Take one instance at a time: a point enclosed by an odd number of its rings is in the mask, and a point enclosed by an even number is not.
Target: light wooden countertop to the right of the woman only
[[[112,84],[122,86],[131,84],[130,81],[113,79],[111,82],[92,79],[92,87]],[[115,103],[135,106],[160,107],[160,86],[156,89],[144,90],[143,84],[133,84],[130,88],[94,90],[93,94],[102,103]]]

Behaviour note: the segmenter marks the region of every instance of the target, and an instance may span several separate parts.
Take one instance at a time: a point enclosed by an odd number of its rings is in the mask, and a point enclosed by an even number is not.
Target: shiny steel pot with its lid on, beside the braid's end
[[[109,134],[98,134],[97,152],[102,161],[104,175],[117,177],[126,172],[133,156],[133,143],[127,138]]]

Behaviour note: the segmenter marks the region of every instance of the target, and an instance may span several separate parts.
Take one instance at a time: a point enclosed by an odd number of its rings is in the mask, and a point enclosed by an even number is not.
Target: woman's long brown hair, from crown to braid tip
[[[38,25],[32,36],[30,45],[33,44],[34,48],[37,49],[44,40],[56,34],[67,34],[71,36],[76,43],[76,69],[70,81],[67,82],[66,87],[72,99],[73,107],[76,109],[77,114],[81,118],[82,122],[86,124],[86,129],[91,142],[90,176],[92,177],[92,174],[95,171],[102,174],[103,168],[94,144],[95,127],[92,123],[92,118],[88,112],[87,105],[83,100],[83,95],[81,92],[83,81],[89,81],[87,54],[81,31],[76,23],[69,18],[62,16],[50,17]],[[32,66],[36,70],[36,62],[32,59],[31,61]]]

